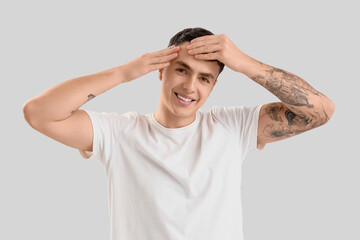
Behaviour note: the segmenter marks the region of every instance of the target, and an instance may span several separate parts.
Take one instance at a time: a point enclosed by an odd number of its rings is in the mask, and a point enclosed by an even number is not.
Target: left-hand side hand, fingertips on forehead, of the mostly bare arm
[[[169,66],[170,61],[177,58],[179,50],[179,46],[170,46],[160,51],[141,55],[125,64],[127,69],[126,77],[131,81],[152,71]]]

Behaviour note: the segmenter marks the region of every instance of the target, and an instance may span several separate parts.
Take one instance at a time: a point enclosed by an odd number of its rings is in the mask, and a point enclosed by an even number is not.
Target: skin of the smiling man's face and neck
[[[188,53],[188,45],[189,42],[180,44],[178,57],[168,67],[159,70],[162,84],[159,107],[154,117],[167,128],[180,128],[192,123],[196,112],[206,102],[217,83],[220,70],[218,63],[196,59]],[[184,63],[191,69],[184,66]],[[189,106],[183,106],[175,92],[195,101]]]

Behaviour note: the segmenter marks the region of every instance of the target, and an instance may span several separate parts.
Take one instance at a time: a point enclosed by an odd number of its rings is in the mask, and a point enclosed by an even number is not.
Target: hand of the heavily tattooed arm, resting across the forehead
[[[228,68],[244,73],[251,57],[241,52],[225,35],[207,35],[193,39],[188,45],[188,53],[197,59],[218,60]]]

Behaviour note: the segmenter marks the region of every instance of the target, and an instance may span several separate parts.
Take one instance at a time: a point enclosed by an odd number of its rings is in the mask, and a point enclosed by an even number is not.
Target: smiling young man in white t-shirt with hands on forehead
[[[48,89],[24,105],[25,119],[105,167],[112,240],[243,239],[246,154],[323,125],[334,104],[300,77],[247,56],[224,34],[184,29],[169,46]],[[224,65],[280,102],[200,110]],[[162,81],[155,113],[78,109],[155,70]]]

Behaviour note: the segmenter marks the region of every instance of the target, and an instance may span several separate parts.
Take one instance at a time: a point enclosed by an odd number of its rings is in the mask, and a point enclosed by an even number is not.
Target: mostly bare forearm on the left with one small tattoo
[[[130,81],[126,69],[122,65],[59,83],[28,100],[25,117],[32,123],[64,120],[92,98]]]

